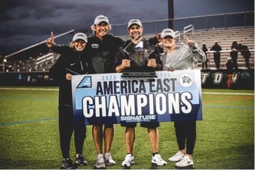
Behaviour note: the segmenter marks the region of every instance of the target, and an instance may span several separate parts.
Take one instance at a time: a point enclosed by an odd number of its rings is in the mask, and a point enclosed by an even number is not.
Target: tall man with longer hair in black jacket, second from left
[[[95,74],[105,74],[115,72],[114,62],[115,53],[119,46],[124,44],[122,38],[113,36],[109,33],[111,25],[108,18],[99,15],[94,20],[94,25],[91,27],[93,34],[88,37],[89,53],[91,56],[92,66]],[[113,124],[93,125],[92,135],[97,150],[96,168],[105,168],[106,165],[115,165],[116,162],[111,158],[110,148],[114,136]],[[103,137],[105,141],[105,153],[102,154]]]

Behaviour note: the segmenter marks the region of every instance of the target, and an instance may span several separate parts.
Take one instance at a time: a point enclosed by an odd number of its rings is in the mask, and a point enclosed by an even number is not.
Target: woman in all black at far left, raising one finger
[[[83,157],[83,144],[86,136],[86,126],[74,124],[73,102],[71,92],[72,75],[89,73],[89,58],[84,56],[87,36],[81,32],[75,34],[70,46],[56,45],[51,38],[46,40],[47,46],[54,52],[62,54],[50,69],[50,76],[59,83],[59,131],[60,148],[63,156],[61,168],[74,169],[69,158],[71,136],[75,134],[76,161],[75,165],[87,165]],[[82,122],[82,121],[81,121]]]

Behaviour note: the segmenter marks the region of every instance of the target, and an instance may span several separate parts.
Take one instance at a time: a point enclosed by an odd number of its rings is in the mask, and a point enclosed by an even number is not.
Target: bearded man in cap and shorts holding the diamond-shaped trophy
[[[119,48],[116,53],[116,72],[123,72],[123,77],[156,77],[155,71],[162,69],[162,62],[159,58],[159,52],[155,45],[142,37],[143,27],[138,19],[132,19],[128,23],[128,32],[130,40]],[[135,141],[135,127],[137,123],[121,123],[125,128],[125,144],[127,155],[122,166],[130,167],[134,164],[132,154]],[[158,153],[159,135],[157,127],[159,123],[141,123],[141,127],[148,129],[148,137],[151,145],[152,164],[157,166],[166,165],[166,162]]]

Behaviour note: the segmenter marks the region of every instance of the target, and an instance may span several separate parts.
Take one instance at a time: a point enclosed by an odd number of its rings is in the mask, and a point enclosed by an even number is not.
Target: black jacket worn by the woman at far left
[[[90,60],[82,52],[74,51],[67,45],[53,45],[51,50],[62,54],[51,67],[49,74],[59,84],[59,108],[63,106],[72,107],[71,80],[66,79],[66,74],[79,75],[91,74]],[[71,72],[74,71],[74,72]]]

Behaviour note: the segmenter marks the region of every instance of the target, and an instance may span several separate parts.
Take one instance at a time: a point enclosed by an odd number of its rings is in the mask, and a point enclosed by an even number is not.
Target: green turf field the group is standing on
[[[31,88],[31,87],[29,87]],[[55,87],[40,87],[55,88]],[[35,88],[37,89],[37,88]],[[58,91],[0,88],[0,169],[59,169]],[[219,92],[221,94],[205,94]],[[223,94],[228,92],[230,94]],[[194,166],[189,169],[254,169],[254,91],[203,89],[203,121],[197,121]],[[84,156],[93,169],[97,153],[87,126]],[[173,123],[161,123],[159,153],[167,161],[178,151]],[[147,129],[137,126],[135,164],[131,169],[151,169]],[[126,155],[124,128],[115,125],[111,154],[123,169]],[[74,140],[70,157],[75,160]],[[175,169],[175,163],[157,169]]]

